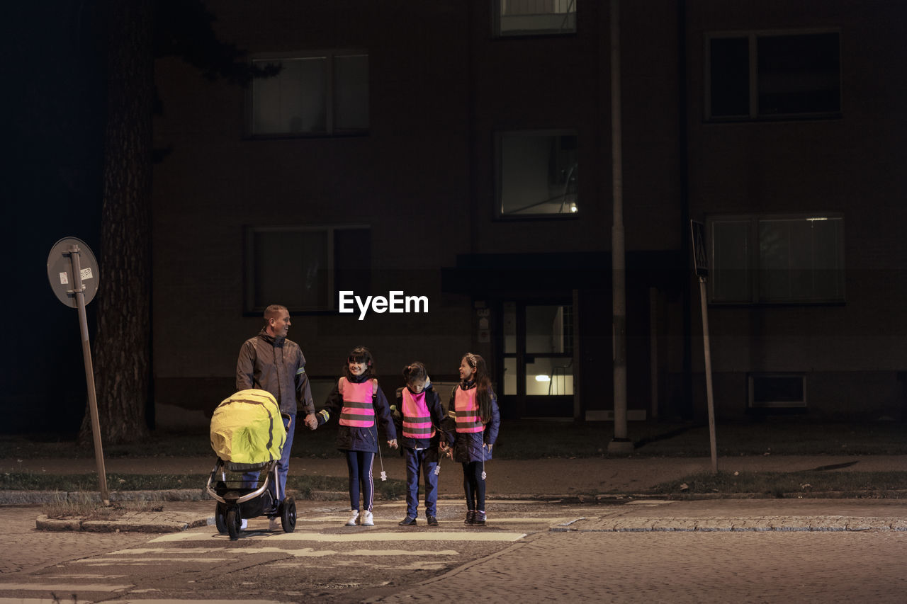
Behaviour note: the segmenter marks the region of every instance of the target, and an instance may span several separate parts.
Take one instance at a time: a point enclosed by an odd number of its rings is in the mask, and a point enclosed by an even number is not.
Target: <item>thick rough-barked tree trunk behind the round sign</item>
[[[94,379],[102,442],[148,434],[151,386],[152,0],[102,2],[107,19],[101,254]],[[91,442],[91,420],[80,440]]]

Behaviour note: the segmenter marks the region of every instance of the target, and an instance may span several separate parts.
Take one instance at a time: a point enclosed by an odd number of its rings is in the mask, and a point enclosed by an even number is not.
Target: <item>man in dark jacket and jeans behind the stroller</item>
[[[287,428],[287,442],[278,462],[278,480],[280,492],[285,493],[287,472],[289,471],[289,453],[293,446],[293,433],[296,429],[297,409],[306,414],[305,424],[315,430],[318,420],[315,415],[315,404],[306,375],[306,357],[296,342],[287,339],[290,320],[287,307],[272,304],[265,308],[265,326],[258,336],[250,337],[239,348],[239,359],[236,362],[236,389],[258,388],[266,390],[277,399],[280,413],[288,414],[289,421],[284,420]],[[257,478],[257,476],[256,476]],[[271,519],[271,529],[279,519]]]

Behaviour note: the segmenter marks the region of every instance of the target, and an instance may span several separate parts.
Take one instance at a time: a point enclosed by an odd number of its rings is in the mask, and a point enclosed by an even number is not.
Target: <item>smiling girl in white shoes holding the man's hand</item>
[[[375,379],[375,362],[365,346],[356,346],[346,357],[344,377],[327,395],[325,408],[318,412],[318,425],[324,424],[332,414],[339,414],[337,449],[346,453],[349,471],[350,518],[346,526],[375,526],[372,502],[375,482],[372,480],[372,463],[378,452],[378,429],[375,417],[387,434],[387,444],[395,449],[396,430],[391,421],[390,407],[385,394]],[[359,489],[362,488],[363,507],[359,513]]]

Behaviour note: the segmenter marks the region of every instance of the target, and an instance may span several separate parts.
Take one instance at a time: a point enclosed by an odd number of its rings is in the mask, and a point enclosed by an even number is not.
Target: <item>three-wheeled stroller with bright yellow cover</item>
[[[280,518],[284,532],[293,532],[296,502],[285,496],[278,480],[287,432],[274,396],[254,389],[230,396],[214,410],[210,437],[217,460],[206,490],[217,501],[218,532],[235,541],[242,520],[258,516]]]

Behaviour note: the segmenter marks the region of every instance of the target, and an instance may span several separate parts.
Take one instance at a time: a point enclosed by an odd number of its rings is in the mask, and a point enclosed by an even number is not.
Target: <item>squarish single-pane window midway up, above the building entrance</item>
[[[577,213],[575,131],[502,132],[497,148],[499,216]]]

